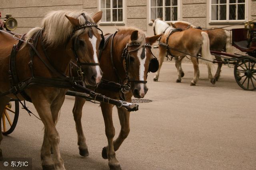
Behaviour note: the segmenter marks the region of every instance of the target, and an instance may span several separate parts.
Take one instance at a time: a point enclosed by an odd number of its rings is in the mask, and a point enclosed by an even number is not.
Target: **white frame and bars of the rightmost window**
[[[247,21],[247,11],[248,11],[248,0],[245,0],[244,3],[231,3],[231,4],[245,4],[244,5],[244,20],[229,20],[229,0],[226,1],[226,19],[227,20],[212,20],[212,0],[210,0],[210,7],[209,7],[209,18],[210,18],[210,23],[232,23],[232,22],[244,22]],[[236,8],[236,11],[238,8]]]

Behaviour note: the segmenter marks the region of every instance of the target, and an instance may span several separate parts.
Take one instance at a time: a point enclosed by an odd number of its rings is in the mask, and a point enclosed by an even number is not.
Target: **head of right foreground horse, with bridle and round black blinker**
[[[148,72],[158,70],[158,61],[152,56],[151,45],[160,35],[145,37],[142,31],[135,30],[128,43],[128,56],[124,60],[124,66],[128,72],[128,82],[131,84],[132,94],[135,98],[143,98],[148,88],[146,80]]]

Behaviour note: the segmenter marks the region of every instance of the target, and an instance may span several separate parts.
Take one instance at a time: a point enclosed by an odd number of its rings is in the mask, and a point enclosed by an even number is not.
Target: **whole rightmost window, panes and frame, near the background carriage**
[[[211,21],[245,21],[246,0],[211,0]]]

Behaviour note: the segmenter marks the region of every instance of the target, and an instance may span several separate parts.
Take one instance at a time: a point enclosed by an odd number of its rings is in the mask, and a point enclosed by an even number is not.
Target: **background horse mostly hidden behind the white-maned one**
[[[174,28],[181,28],[181,29],[188,29],[188,28],[196,28],[194,25],[191,25],[191,23],[186,21],[177,21],[174,23],[171,23],[172,27]],[[206,29],[203,30],[206,32],[210,39],[210,50],[211,51],[226,51],[226,53],[233,53],[232,46],[230,43],[230,32],[225,29],[219,29],[219,28],[212,28],[212,29]],[[221,57],[215,56],[216,60],[222,61]],[[179,64],[180,72],[183,73],[181,68],[181,61],[177,60]],[[216,70],[214,78],[216,81],[220,78],[220,72],[221,72],[222,63],[218,63],[218,68]]]

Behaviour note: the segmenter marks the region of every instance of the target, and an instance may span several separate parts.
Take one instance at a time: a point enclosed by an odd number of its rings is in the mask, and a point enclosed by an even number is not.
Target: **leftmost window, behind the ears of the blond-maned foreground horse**
[[[101,22],[112,23],[124,21],[123,0],[100,0],[100,10],[103,12]]]

